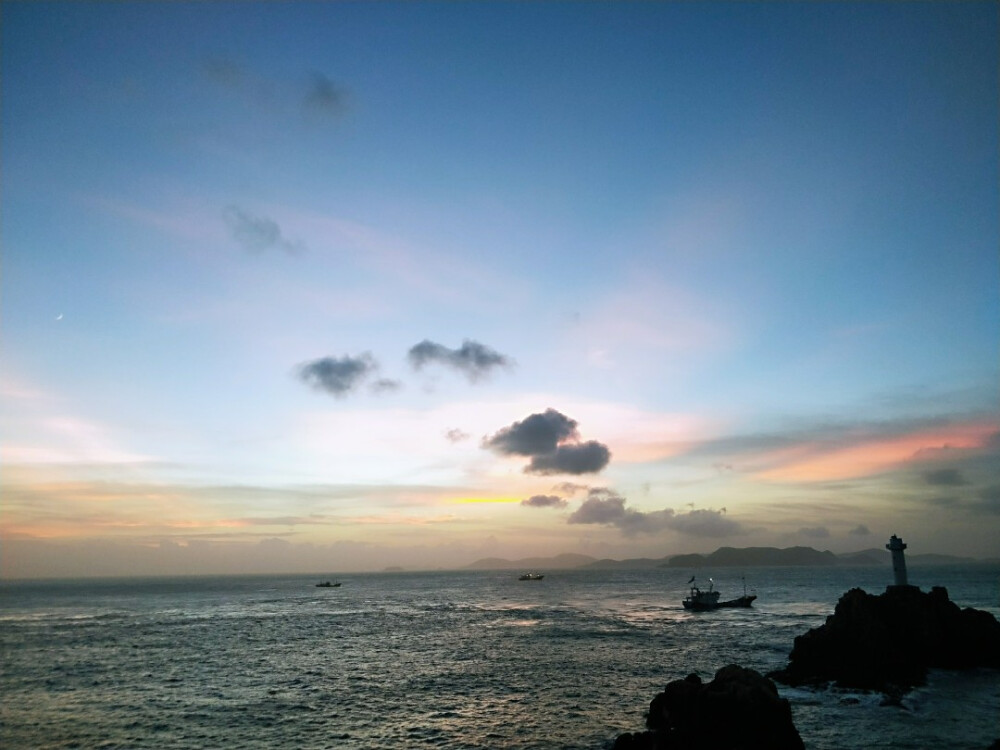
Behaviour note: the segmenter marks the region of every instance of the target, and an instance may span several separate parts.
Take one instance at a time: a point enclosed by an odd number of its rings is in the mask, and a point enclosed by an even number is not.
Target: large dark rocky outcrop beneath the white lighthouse
[[[788,666],[771,677],[789,685],[835,682],[890,695],[923,684],[929,667],[1000,668],[1000,623],[960,609],[936,586],[851,589],[826,624],[798,636]]]

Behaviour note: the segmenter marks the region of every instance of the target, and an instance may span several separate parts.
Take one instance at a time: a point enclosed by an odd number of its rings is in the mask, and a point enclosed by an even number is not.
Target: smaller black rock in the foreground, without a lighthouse
[[[614,750],[801,750],[788,701],[768,678],[735,664],[702,684],[675,680],[649,704],[649,731],[626,733]]]

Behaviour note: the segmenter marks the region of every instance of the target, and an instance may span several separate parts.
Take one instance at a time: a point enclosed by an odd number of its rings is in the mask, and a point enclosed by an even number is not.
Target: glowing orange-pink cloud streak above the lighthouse
[[[871,476],[914,461],[940,458],[942,451],[974,450],[1000,429],[993,423],[947,425],[909,435],[861,439],[828,448],[806,443],[769,456],[773,468],[757,472],[773,482],[826,482]]]

